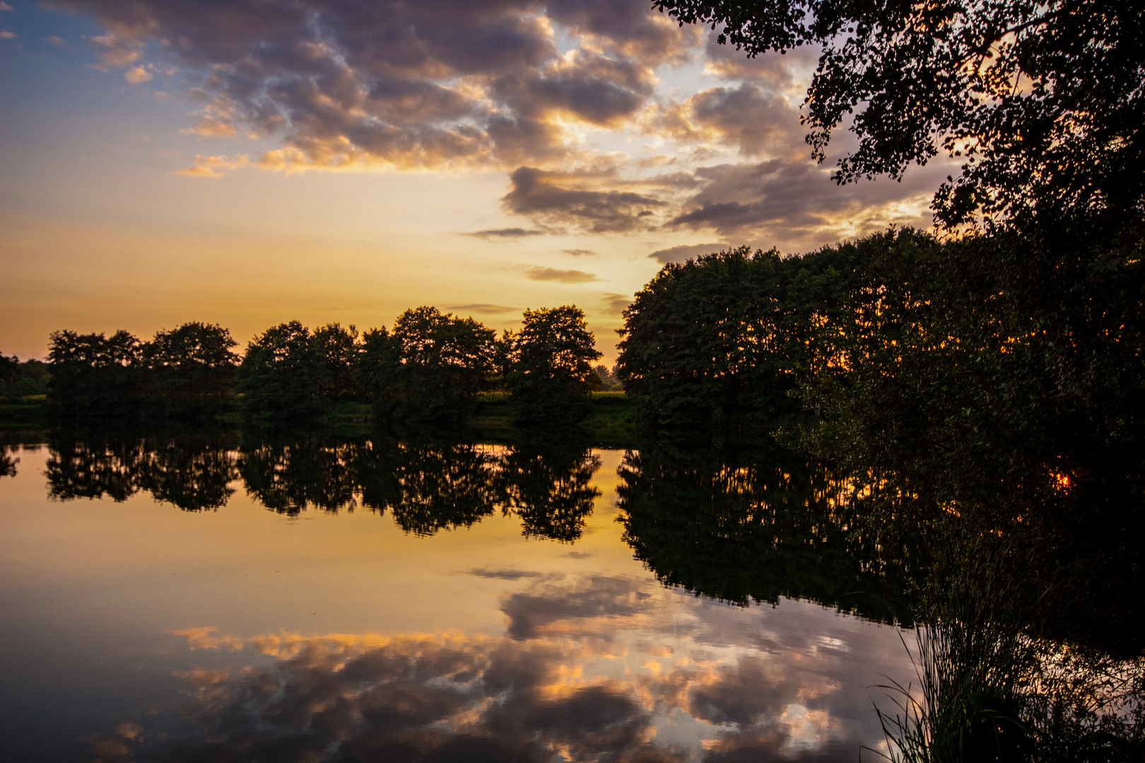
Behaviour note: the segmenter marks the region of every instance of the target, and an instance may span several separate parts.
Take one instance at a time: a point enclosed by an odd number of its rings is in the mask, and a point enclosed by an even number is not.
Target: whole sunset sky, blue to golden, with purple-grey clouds
[[[9,0],[0,30],[22,358],[57,328],[574,303],[611,363],[664,262],[926,226],[951,172],[837,186],[799,125],[814,50],[749,61],[648,0]]]

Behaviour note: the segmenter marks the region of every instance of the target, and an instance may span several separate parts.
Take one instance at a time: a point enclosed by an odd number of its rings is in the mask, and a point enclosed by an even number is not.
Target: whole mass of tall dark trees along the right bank
[[[617,372],[646,421],[785,428],[890,503],[1085,511],[1118,538],[1145,504],[1145,267],[1100,247],[1037,283],[1044,252],[1002,231],[669,264]]]

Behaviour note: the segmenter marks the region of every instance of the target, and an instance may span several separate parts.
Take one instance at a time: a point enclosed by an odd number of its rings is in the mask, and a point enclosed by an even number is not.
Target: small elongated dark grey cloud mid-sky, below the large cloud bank
[[[631,231],[647,228],[643,217],[663,201],[633,191],[601,191],[569,188],[569,184],[600,182],[593,175],[550,173],[519,167],[510,176],[512,189],[502,199],[506,210],[554,224],[593,232]],[[563,183],[563,184],[561,184]]]

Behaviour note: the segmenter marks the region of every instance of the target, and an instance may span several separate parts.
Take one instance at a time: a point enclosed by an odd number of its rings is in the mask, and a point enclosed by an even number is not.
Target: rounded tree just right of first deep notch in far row
[[[305,419],[324,410],[324,359],[314,335],[297,320],[251,340],[238,368],[243,411],[260,419]]]

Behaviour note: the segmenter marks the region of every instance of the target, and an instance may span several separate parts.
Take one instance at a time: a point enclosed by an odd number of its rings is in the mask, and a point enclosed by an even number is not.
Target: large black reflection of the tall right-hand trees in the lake
[[[739,604],[807,598],[909,625],[911,547],[884,545],[848,501],[847,482],[772,444],[629,451],[624,539],[665,583]]]

